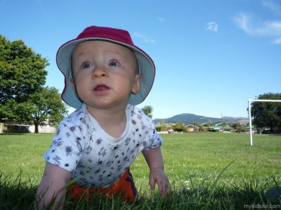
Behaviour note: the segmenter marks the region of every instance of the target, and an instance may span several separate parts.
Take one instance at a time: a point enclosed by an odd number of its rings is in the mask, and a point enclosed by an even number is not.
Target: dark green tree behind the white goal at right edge
[[[281,93],[264,93],[256,99],[281,100]],[[257,127],[269,127],[270,133],[281,129],[281,103],[253,101],[251,103],[253,124]]]

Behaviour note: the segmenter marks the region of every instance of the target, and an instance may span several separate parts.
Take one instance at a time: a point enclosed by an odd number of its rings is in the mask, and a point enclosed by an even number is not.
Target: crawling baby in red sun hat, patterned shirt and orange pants
[[[43,155],[36,208],[56,196],[62,209],[66,194],[74,199],[122,195],[133,202],[137,192],[130,166],[140,152],[151,189],[156,182],[161,196],[170,195],[162,139],[152,119],[135,107],[154,81],[155,66],[146,52],[127,31],[92,26],[59,48],[57,65],[65,77],[62,99],[77,110],[60,122]]]

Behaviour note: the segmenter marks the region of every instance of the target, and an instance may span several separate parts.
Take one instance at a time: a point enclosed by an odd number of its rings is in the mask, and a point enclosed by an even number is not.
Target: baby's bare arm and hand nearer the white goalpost
[[[150,169],[149,185],[153,190],[155,182],[158,185],[158,191],[161,196],[168,190],[168,195],[171,195],[172,188],[167,175],[164,172],[164,164],[160,147],[143,150],[143,155]]]

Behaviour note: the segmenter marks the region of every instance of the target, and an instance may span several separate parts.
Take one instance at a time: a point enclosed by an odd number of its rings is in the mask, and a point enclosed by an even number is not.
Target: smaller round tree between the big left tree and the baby
[[[40,88],[36,93],[30,95],[25,104],[30,110],[21,115],[25,116],[25,119],[21,120],[34,124],[36,134],[38,134],[39,125],[49,123],[56,126],[68,112],[68,106],[62,102],[58,90],[54,87]]]

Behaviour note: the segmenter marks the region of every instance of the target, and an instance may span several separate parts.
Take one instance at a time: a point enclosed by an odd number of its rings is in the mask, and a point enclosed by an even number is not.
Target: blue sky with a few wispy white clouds
[[[0,34],[48,58],[46,85],[63,90],[57,49],[89,25],[129,31],[154,60],[154,86],[139,108],[247,117],[248,99],[281,92],[281,1],[0,1]]]

